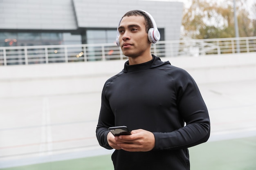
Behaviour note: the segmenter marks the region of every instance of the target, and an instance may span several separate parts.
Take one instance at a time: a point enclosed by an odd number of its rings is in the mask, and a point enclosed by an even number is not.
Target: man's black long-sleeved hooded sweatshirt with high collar
[[[155,136],[151,151],[115,150],[115,170],[189,170],[187,148],[210,135],[207,107],[191,75],[155,55],[142,64],[127,61],[123,71],[106,81],[96,135],[107,149],[112,149],[107,142],[111,126],[144,129]]]

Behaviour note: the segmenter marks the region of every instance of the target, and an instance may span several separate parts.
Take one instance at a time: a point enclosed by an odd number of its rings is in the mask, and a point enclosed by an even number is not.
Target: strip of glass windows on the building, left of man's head
[[[77,34],[60,32],[0,32],[0,46],[115,43],[117,36],[116,29],[94,29],[87,30],[85,33],[86,36],[79,32]]]

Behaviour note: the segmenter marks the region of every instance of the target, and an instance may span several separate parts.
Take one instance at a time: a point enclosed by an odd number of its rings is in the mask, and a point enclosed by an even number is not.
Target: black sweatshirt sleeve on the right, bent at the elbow
[[[206,142],[210,135],[208,110],[194,79],[182,69],[173,79],[177,109],[186,126],[172,132],[153,132],[157,150],[189,148]]]

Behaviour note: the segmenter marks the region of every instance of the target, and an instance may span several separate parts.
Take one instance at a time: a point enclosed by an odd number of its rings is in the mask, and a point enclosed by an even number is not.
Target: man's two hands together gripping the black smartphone
[[[108,144],[115,149],[130,152],[146,152],[155,146],[155,136],[152,132],[143,129],[132,130],[132,135],[114,137],[108,133]]]

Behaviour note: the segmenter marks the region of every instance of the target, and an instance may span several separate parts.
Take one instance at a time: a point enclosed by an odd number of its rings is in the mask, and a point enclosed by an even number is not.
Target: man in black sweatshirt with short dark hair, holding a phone
[[[207,107],[193,78],[150,53],[157,41],[148,35],[154,22],[146,11],[132,10],[119,23],[117,44],[128,61],[103,87],[96,130],[99,144],[115,149],[115,170],[189,170],[187,148],[210,135]],[[132,135],[114,137],[108,130],[124,125]]]

